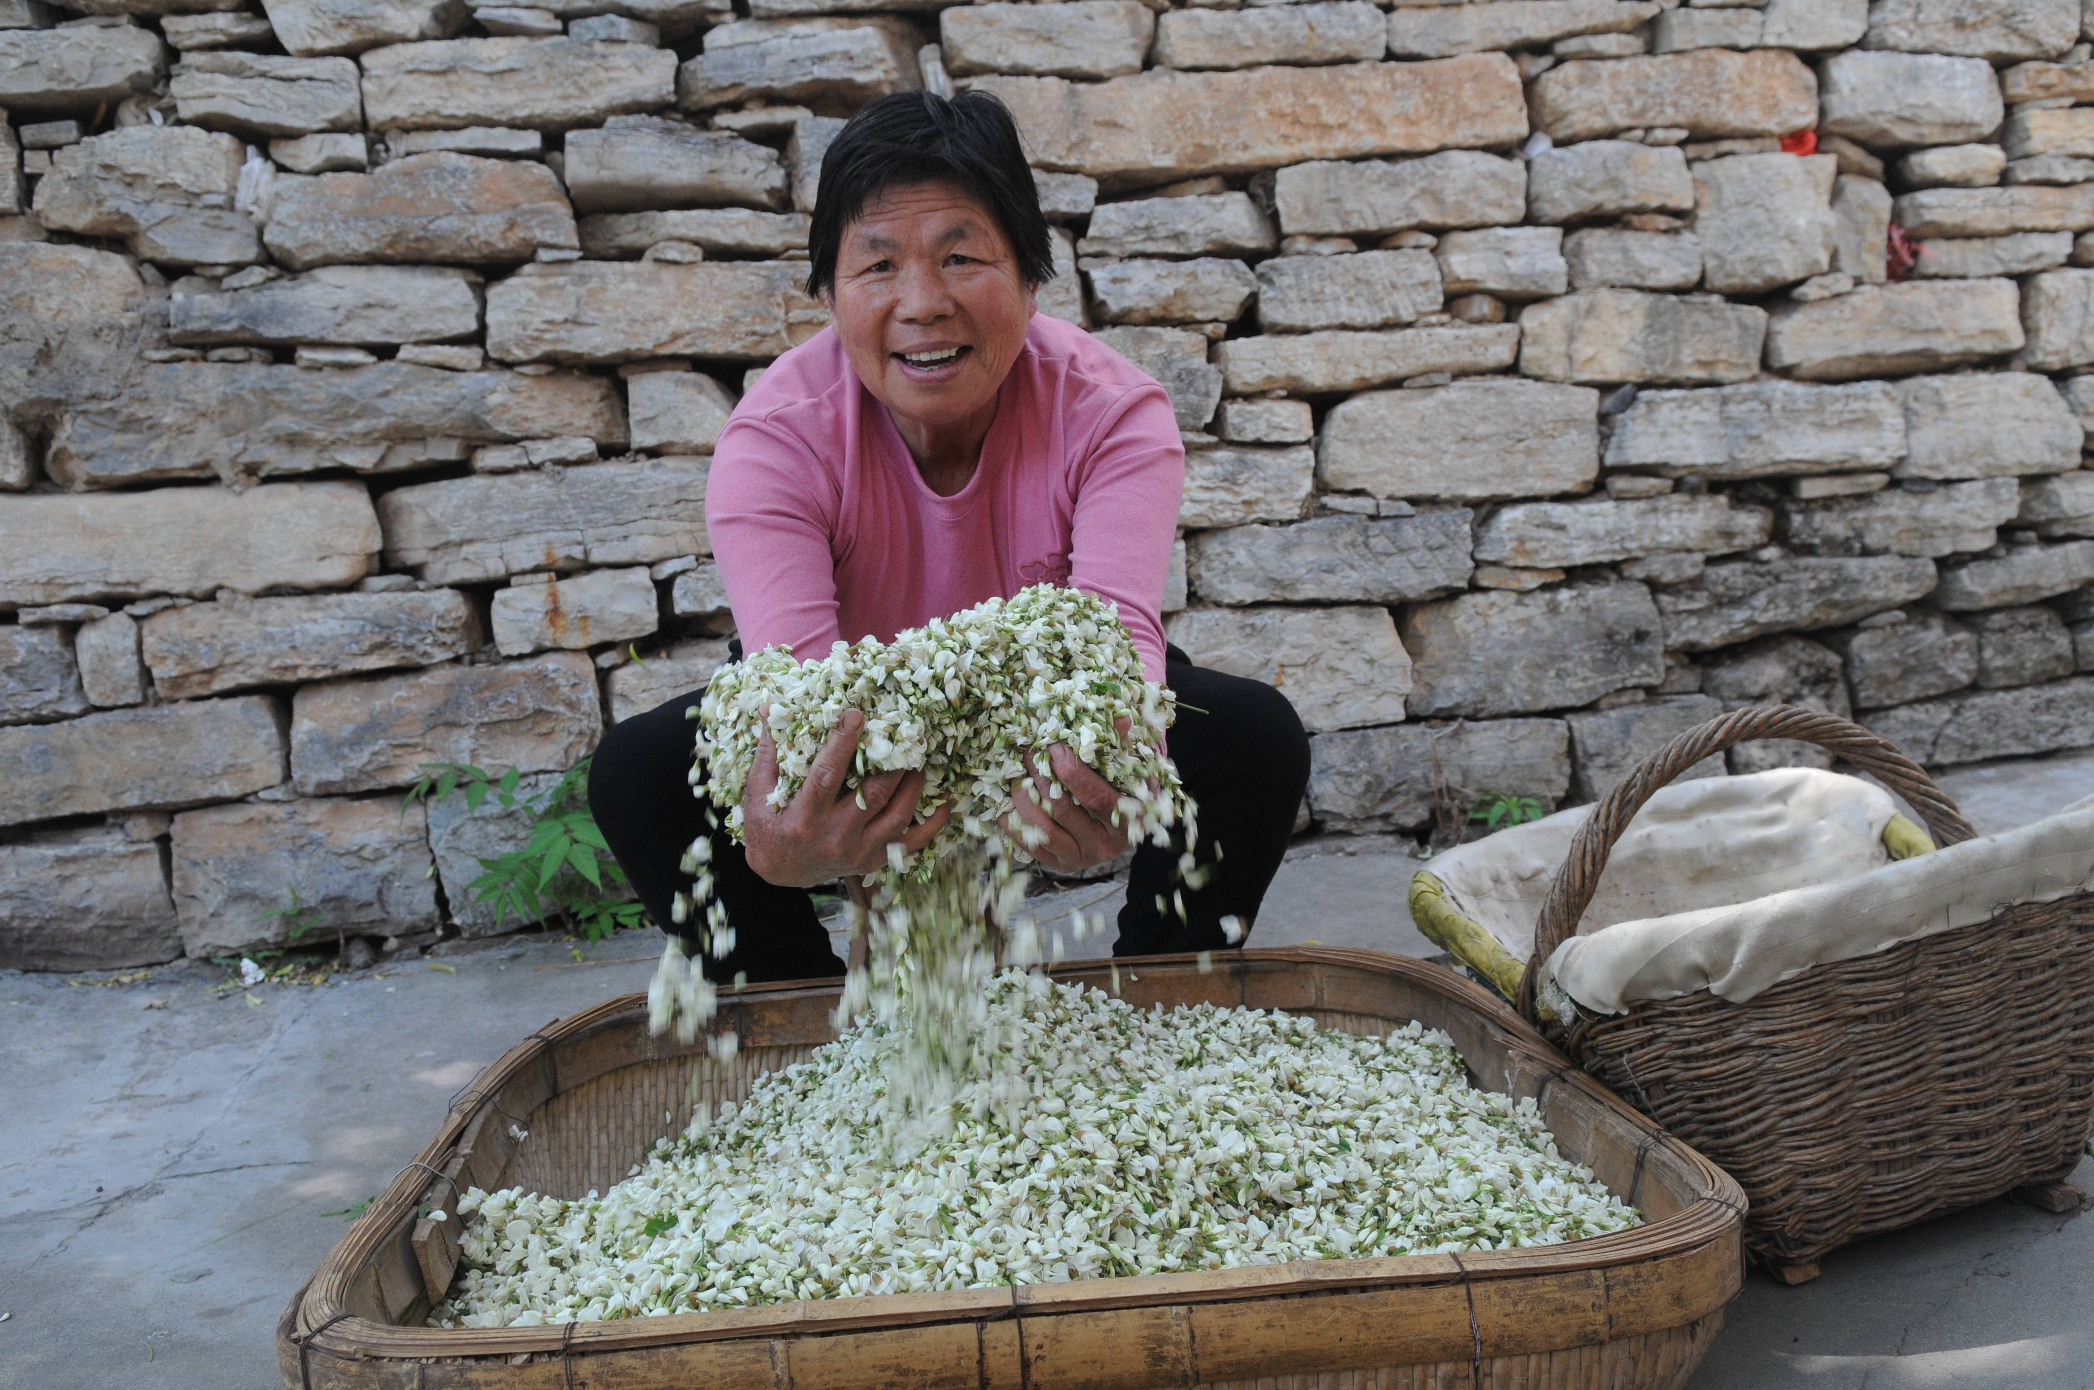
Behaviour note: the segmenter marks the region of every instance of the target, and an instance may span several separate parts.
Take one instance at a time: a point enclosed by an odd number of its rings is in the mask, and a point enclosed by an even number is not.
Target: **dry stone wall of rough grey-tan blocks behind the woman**
[[[1300,710],[1307,823],[1594,798],[1765,699],[1933,764],[2090,745],[2090,36],[0,0],[0,967],[274,944],[293,894],[503,929],[465,883],[517,827],[402,789],[551,785],[712,670],[710,450],[825,322],[823,151],[915,88],[1009,103],[1043,312],[1171,391],[1171,632]]]

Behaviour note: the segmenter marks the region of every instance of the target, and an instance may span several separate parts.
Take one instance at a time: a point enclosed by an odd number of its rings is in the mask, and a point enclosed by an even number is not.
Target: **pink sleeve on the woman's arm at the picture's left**
[[[712,540],[741,649],[829,655],[842,638],[836,601],[836,513],[842,498],[808,446],[762,419],[731,419],[706,477]]]

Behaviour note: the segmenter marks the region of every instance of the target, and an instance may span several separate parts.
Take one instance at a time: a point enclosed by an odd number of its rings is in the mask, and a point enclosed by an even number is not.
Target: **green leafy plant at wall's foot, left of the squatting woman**
[[[626,875],[588,814],[588,758],[538,795],[521,795],[519,783],[517,768],[494,775],[467,762],[425,762],[406,804],[463,795],[465,810],[475,812],[492,798],[532,819],[524,846],[482,858],[486,873],[465,888],[473,902],[492,904],[496,919],[559,921],[591,942],[641,925],[647,909],[622,896]]]

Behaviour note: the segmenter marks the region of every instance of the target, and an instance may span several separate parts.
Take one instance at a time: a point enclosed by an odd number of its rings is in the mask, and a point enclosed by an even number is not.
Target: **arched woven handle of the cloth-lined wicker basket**
[[[1591,896],[1600,890],[1600,875],[1614,852],[1614,842],[1629,829],[1635,812],[1644,808],[1644,802],[1658,787],[1702,758],[1751,739],[1801,739],[1832,749],[1906,798],[1926,821],[1926,829],[1933,831],[1937,846],[1977,837],[1970,823],[1956,810],[1956,802],[1935,785],[1926,768],[1897,752],[1897,745],[1889,739],[1862,728],[1853,720],[1799,705],[1746,705],[1744,710],[1721,714],[1644,758],[1633,772],[1614,783],[1614,789],[1606,793],[1570,839],[1570,852],[1550,883],[1550,896],[1541,902],[1541,917],[1535,921],[1535,955],[1527,961],[1527,973],[1520,978],[1518,1007],[1529,1024],[1537,1022],[1535,980],[1541,976],[1541,963],[1550,959],[1556,946],[1577,934],[1579,919],[1585,915],[1587,904],[1591,904]]]

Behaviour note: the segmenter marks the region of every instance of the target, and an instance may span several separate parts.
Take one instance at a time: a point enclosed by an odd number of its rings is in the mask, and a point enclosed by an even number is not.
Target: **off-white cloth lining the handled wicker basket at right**
[[[1589,806],[1449,850],[1447,900],[1518,957]],[[1665,787],[1614,846],[1579,934],[1545,976],[1581,1009],[1711,990],[1744,1003],[1807,971],[2094,888],[2094,798],[2063,814],[1891,860],[1891,795],[1813,768]]]

